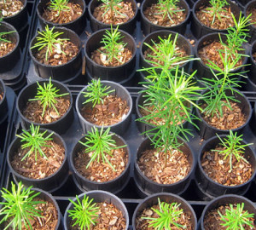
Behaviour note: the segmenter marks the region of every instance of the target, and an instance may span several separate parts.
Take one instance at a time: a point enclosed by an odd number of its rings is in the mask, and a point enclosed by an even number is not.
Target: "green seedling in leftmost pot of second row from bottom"
[[[42,157],[47,158],[44,154],[44,151],[42,150],[42,147],[51,147],[47,145],[46,141],[52,140],[51,135],[53,135],[53,132],[50,133],[49,135],[44,136],[47,130],[41,132],[39,129],[40,126],[34,126],[33,124],[31,124],[29,131],[22,129],[22,134],[16,135],[20,137],[20,142],[24,142],[24,144],[21,145],[21,148],[29,148],[28,152],[26,152],[25,156],[21,160],[24,160],[31,154],[34,154],[35,160],[37,161],[38,152]]]

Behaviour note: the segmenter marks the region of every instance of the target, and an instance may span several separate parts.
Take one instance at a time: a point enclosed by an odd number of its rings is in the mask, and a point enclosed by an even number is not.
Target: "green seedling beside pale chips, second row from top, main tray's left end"
[[[53,49],[60,51],[63,55],[66,55],[63,50],[61,50],[61,45],[63,41],[68,41],[67,38],[60,38],[59,36],[63,32],[54,32],[55,26],[49,29],[49,26],[45,26],[45,30],[38,32],[37,43],[35,43],[31,49],[38,48],[38,50],[44,49],[46,47],[45,60],[48,60],[48,56],[53,52]],[[41,35],[41,37],[40,37]]]

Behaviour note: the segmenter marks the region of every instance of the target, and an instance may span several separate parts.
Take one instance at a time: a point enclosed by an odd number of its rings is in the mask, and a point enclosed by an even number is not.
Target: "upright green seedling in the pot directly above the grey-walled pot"
[[[103,50],[101,51],[104,55],[108,57],[108,61],[114,63],[114,60],[117,60],[119,63],[122,63],[122,60],[119,55],[119,52],[125,48],[126,43],[122,41],[123,36],[118,31],[119,26],[113,30],[113,27],[111,25],[110,30],[106,30],[105,34],[102,37],[101,43],[104,44],[102,47]]]

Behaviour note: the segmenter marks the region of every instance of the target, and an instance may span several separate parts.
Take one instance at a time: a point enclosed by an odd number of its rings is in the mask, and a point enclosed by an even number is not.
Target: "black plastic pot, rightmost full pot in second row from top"
[[[202,49],[203,47],[207,46],[210,43],[213,43],[215,41],[219,41],[219,36],[221,37],[222,41],[225,43],[227,37],[224,33],[210,33],[207,34],[204,37],[201,37],[201,39],[196,43],[195,45],[195,57],[199,58],[199,60],[193,61],[193,69],[197,70],[196,72],[196,78],[201,81],[202,78],[215,78],[214,75],[211,72],[211,69],[200,59],[200,55],[198,55],[198,51]],[[246,49],[243,51],[244,55],[247,55]],[[241,65],[246,65],[247,63],[247,56],[242,56],[242,63]],[[243,67],[238,67],[232,73],[241,73],[243,71]],[[214,71],[215,73],[218,73],[217,71]],[[237,74],[237,76],[233,76],[232,78],[239,78],[240,76]],[[219,76],[218,76],[219,78]]]

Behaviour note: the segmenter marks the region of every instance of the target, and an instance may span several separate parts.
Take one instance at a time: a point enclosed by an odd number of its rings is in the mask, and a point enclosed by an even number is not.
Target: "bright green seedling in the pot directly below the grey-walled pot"
[[[109,166],[115,171],[113,165],[107,158],[107,155],[113,156],[113,151],[115,149],[126,147],[124,146],[117,146],[116,142],[113,140],[113,133],[110,132],[110,127],[104,131],[104,127],[102,126],[101,130],[96,129],[94,126],[91,131],[85,135],[85,142],[79,141],[85,149],[85,153],[92,152],[90,157],[89,163],[86,165],[86,169],[90,166],[90,164],[94,161],[100,162],[107,162]]]

